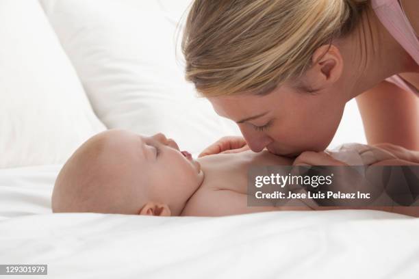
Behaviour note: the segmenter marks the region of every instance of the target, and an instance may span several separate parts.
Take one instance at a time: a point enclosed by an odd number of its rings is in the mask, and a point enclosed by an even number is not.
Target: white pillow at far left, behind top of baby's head
[[[0,1],[0,168],[63,163],[105,127],[36,0]]]

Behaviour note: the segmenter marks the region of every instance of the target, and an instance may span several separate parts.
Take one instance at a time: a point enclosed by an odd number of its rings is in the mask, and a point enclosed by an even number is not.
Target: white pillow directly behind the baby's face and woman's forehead
[[[223,135],[240,135],[196,98],[177,63],[176,25],[189,0],[40,2],[108,128],[163,132],[195,154]]]

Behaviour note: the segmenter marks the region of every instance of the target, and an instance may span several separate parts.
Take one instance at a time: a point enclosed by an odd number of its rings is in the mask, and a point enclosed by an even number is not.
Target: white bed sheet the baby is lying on
[[[0,170],[1,264],[48,264],[47,278],[418,278],[412,217],[51,214],[60,167]]]

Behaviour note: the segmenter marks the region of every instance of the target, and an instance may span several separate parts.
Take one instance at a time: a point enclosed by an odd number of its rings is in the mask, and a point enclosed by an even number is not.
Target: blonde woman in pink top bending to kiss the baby
[[[417,0],[195,0],[186,78],[244,136],[201,155],[267,148],[333,164],[320,151],[355,97],[368,144],[419,150],[416,34]]]

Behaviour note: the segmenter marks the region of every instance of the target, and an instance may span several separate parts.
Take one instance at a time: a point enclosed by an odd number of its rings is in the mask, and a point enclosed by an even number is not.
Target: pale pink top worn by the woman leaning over
[[[409,55],[419,64],[419,38],[415,30],[411,27],[403,7],[398,0],[371,0],[375,14],[388,29],[394,39],[409,53]],[[385,79],[398,87],[419,95],[418,88],[402,79],[399,75],[394,75]]]

